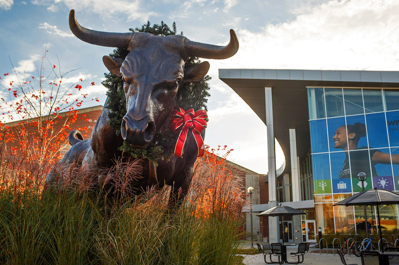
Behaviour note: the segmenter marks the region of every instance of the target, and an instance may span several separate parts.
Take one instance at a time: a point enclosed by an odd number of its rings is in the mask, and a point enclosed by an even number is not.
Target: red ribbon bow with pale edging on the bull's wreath
[[[204,153],[203,139],[201,132],[206,128],[208,115],[205,110],[197,110],[190,108],[184,111],[180,107],[175,107],[170,116],[170,126],[174,133],[180,131],[178,141],[175,147],[175,156],[183,157],[183,148],[186,143],[187,134],[189,131],[193,132],[196,139],[198,153],[197,157],[202,157]]]

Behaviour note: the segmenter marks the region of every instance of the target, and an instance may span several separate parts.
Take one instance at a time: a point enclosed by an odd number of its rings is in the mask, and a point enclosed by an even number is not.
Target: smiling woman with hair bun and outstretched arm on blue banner
[[[335,135],[333,137],[334,147],[337,149],[343,149],[344,151],[356,151],[356,150],[365,150],[367,151],[366,146],[358,147],[358,142],[360,138],[366,136],[366,126],[361,122],[356,122],[353,125],[348,124],[347,128],[345,125],[338,127],[335,131]],[[339,178],[349,178],[351,177],[350,167],[349,167],[349,155],[346,153],[346,158],[344,161],[344,165],[341,169],[341,173],[339,174]],[[360,172],[365,172],[370,169],[370,160],[369,160],[369,152],[351,152],[351,170],[352,175],[357,176]],[[379,150],[370,150],[370,158],[371,158],[371,169],[374,177],[378,176],[375,165],[376,164],[391,164],[390,154],[383,153]],[[399,155],[392,155],[392,163],[399,164]],[[367,174],[367,172],[366,172]],[[370,176],[370,174],[369,174]]]

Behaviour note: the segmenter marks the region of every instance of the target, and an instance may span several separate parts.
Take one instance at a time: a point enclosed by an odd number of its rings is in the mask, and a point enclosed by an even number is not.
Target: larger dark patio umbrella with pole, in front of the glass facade
[[[381,232],[381,220],[380,220],[380,210],[379,205],[381,204],[399,204],[399,194],[386,189],[369,189],[362,192],[359,192],[349,198],[346,198],[336,204],[336,205],[345,205],[345,206],[354,206],[354,205],[375,205],[377,206],[377,217],[378,217],[378,227],[380,228],[380,239],[383,244],[383,253],[384,253],[384,242],[383,242],[383,233]]]

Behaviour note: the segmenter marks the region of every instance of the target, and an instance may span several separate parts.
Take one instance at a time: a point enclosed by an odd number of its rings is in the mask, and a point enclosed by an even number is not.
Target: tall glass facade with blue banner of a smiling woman
[[[364,188],[399,190],[399,90],[307,88],[316,220],[323,232],[356,232],[363,207],[333,203]],[[301,174],[302,175],[302,174]],[[382,226],[398,227],[397,206],[384,206]],[[367,207],[375,226],[375,209]],[[364,228],[363,228],[364,229]]]

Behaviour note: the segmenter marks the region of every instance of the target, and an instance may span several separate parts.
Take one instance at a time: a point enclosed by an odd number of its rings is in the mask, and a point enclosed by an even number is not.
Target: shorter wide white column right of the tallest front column
[[[291,177],[292,177],[292,201],[300,201],[301,179],[299,176],[299,165],[298,165],[298,157],[296,152],[295,129],[290,129],[290,158],[291,158]]]

